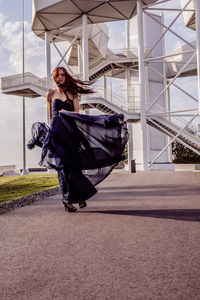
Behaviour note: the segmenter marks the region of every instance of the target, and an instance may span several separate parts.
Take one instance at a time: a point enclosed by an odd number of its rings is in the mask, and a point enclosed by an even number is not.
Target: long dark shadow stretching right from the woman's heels
[[[162,209],[162,210],[96,210],[82,213],[97,213],[122,216],[175,219],[178,221],[200,222],[200,209]]]

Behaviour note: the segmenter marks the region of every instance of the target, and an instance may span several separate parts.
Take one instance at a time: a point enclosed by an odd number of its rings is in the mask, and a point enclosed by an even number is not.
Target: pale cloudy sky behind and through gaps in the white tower
[[[22,72],[22,0],[0,0],[0,77],[10,76]],[[44,41],[31,31],[32,1],[25,0],[25,72],[32,72],[44,77]],[[179,7],[178,0],[172,0],[174,7]],[[166,5],[166,4],[165,4]],[[166,14],[166,24],[172,20],[173,13]],[[112,22],[109,26],[109,48],[117,49],[125,47],[125,23]],[[183,20],[179,18],[173,26],[182,34]],[[195,39],[195,33],[184,29],[184,36],[190,41]],[[181,45],[172,35],[166,37],[166,50],[170,51]],[[136,45],[137,46],[137,45]],[[62,48],[62,46],[61,46]],[[64,49],[64,47],[63,47]],[[62,49],[62,50],[63,50]],[[56,66],[58,55],[52,49],[52,66]],[[197,96],[197,90],[193,87],[196,78],[184,78],[180,80],[188,91]],[[125,85],[124,81],[113,81],[113,87]],[[174,94],[173,94],[174,93]],[[191,107],[182,94],[173,91],[176,96],[175,108]],[[31,125],[37,121],[46,121],[46,102],[40,98],[26,98],[26,141],[30,138]],[[0,166],[16,164],[22,166],[22,97],[4,95],[0,93]],[[27,165],[36,165],[40,158],[40,149],[26,151]]]

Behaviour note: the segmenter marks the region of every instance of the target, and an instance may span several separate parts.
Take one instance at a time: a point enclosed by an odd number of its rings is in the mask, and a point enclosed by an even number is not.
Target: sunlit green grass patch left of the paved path
[[[56,174],[0,177],[0,204],[57,187]]]

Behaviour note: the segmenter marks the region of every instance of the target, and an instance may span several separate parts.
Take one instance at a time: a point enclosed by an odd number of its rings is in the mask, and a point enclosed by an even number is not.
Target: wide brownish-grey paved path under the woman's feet
[[[200,299],[200,176],[114,174],[88,208],[0,216],[0,298]]]

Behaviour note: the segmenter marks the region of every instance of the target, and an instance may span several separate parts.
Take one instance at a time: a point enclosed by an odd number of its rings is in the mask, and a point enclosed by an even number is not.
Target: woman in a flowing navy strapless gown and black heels
[[[79,114],[80,95],[93,93],[85,82],[63,67],[54,70],[53,79],[57,87],[46,94],[50,128],[34,123],[27,146],[42,147],[39,164],[57,170],[65,211],[75,212],[73,204],[86,207],[97,192],[94,185],[124,159],[128,132],[123,115]]]

